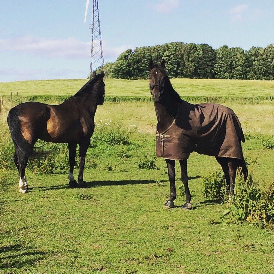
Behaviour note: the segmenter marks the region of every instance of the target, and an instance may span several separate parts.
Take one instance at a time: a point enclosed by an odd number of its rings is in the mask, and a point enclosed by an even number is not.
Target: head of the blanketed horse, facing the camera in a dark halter
[[[154,64],[152,59],[149,62],[149,89],[154,103],[159,103],[163,97],[167,78],[165,65],[165,59],[163,59],[160,65]]]

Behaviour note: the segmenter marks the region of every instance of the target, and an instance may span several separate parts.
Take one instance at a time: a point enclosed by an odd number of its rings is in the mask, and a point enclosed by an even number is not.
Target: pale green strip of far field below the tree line
[[[0,83],[0,96],[74,95],[87,79],[17,81]],[[150,97],[148,80],[106,79],[106,96]],[[220,79],[171,79],[172,86],[181,96],[274,96],[274,81],[220,80]]]

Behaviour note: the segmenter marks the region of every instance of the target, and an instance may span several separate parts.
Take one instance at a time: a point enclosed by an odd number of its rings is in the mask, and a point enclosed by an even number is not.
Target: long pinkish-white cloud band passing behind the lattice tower
[[[35,38],[32,36],[19,36],[15,38],[0,39],[0,51],[13,51],[20,54],[32,54],[41,57],[64,57],[67,59],[86,59],[90,56],[90,42],[77,40],[74,37]],[[114,59],[130,45],[119,47],[108,46],[103,41],[104,57]]]

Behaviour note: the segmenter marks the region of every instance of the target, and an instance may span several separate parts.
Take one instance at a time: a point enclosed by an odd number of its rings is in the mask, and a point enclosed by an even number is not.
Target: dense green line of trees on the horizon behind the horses
[[[128,49],[113,63],[105,64],[109,78],[146,79],[149,60],[166,59],[171,78],[274,80],[274,44],[267,47],[226,45],[213,49],[208,44],[172,42],[153,47]]]

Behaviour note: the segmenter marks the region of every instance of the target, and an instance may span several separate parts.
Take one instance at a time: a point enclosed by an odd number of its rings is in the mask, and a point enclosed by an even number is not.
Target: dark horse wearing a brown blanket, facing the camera
[[[172,88],[165,71],[165,60],[161,65],[150,61],[150,91],[157,115],[156,154],[166,160],[170,182],[170,197],[166,208],[174,207],[176,199],[175,160],[181,166],[186,203],[183,209],[191,209],[188,188],[187,158],[193,151],[215,156],[221,165],[230,195],[234,194],[234,183],[238,167],[246,179],[248,170],[242,153],[241,142],[245,142],[241,124],[236,114],[223,105],[190,104],[180,98]]]

